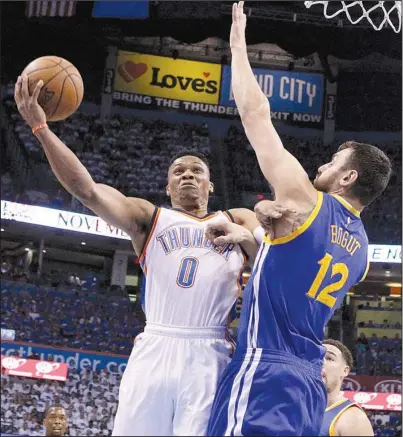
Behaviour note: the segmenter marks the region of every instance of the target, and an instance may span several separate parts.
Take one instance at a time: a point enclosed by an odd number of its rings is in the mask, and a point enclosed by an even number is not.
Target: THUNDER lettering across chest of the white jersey
[[[216,246],[207,239],[202,228],[180,227],[171,228],[168,231],[158,235],[157,241],[161,244],[165,255],[168,255],[177,249],[200,248],[209,249],[218,255],[221,255],[228,261],[229,256],[235,248],[235,244],[225,244]]]

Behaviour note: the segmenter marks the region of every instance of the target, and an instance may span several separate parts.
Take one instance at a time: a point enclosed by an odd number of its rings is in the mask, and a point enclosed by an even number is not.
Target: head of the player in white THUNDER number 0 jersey
[[[173,206],[197,208],[207,205],[209,195],[214,191],[207,158],[195,151],[177,153],[169,165],[166,191]]]

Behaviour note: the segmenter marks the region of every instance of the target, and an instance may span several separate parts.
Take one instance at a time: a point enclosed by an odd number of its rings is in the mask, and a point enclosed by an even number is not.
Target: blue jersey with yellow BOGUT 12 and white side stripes
[[[325,326],[367,270],[360,214],[318,192],[307,221],[288,236],[265,237],[244,290],[237,352],[262,348],[322,365]]]

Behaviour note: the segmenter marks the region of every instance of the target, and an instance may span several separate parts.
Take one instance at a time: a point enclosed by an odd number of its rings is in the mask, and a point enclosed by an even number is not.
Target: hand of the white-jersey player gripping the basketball
[[[14,99],[19,113],[31,128],[46,123],[46,115],[38,103],[38,96],[43,87],[40,80],[32,93],[29,94],[28,76],[19,76],[15,84]]]

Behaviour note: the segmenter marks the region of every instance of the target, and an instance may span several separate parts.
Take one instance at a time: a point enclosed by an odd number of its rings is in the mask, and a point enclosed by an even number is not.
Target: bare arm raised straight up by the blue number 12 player
[[[232,90],[245,128],[265,178],[273,186],[276,199],[298,210],[310,210],[317,193],[297,159],[283,146],[270,117],[270,103],[260,89],[249,64],[243,3],[233,5],[230,45]]]

